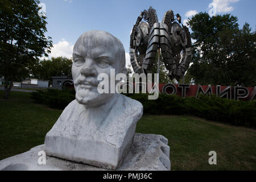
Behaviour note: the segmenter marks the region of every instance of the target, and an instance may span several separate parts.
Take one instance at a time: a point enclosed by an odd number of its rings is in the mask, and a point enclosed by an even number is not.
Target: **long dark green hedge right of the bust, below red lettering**
[[[189,114],[212,121],[256,127],[256,102],[234,101],[216,96],[179,97],[159,94],[148,100],[148,94],[125,94],[142,103],[144,114]]]

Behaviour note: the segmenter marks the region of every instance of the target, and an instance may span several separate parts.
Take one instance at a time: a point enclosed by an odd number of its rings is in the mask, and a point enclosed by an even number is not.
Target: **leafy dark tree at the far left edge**
[[[44,36],[47,22],[40,9],[38,0],[1,0],[0,76],[6,82],[5,99],[13,81],[28,76],[28,67],[48,56],[52,47],[51,38]]]

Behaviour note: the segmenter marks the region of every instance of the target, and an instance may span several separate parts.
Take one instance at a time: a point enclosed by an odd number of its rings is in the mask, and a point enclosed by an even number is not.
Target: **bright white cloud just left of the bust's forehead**
[[[57,44],[53,44],[51,49],[51,53],[49,54],[50,57],[58,57],[63,56],[67,57],[68,59],[72,59],[74,45],[67,42],[64,38]]]

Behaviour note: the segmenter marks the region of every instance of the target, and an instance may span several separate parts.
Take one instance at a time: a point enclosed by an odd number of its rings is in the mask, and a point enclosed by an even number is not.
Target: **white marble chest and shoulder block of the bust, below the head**
[[[98,167],[115,169],[121,165],[133,141],[137,121],[142,117],[140,102],[118,94],[108,115],[88,121],[85,107],[72,101],[47,133],[46,154]],[[97,112],[92,115],[100,115]]]

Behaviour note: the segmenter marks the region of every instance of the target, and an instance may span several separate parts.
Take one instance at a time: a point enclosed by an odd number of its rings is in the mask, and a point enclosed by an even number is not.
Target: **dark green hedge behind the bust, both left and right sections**
[[[256,127],[256,101],[235,101],[204,95],[199,95],[199,98],[183,98],[167,94],[159,94],[157,100],[148,100],[148,94],[124,95],[141,102],[144,114],[187,114],[233,125]],[[75,90],[38,90],[31,93],[31,98],[36,103],[64,109],[75,99]]]

